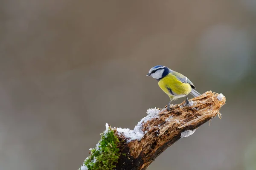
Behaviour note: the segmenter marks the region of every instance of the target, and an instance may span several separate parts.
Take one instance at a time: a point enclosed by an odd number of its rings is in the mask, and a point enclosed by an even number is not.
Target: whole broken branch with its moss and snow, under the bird
[[[145,170],[154,159],[177,140],[187,137],[215,116],[226,102],[225,96],[207,91],[172,105],[171,111],[149,109],[134,130],[111,128],[106,124],[101,140],[79,170]]]

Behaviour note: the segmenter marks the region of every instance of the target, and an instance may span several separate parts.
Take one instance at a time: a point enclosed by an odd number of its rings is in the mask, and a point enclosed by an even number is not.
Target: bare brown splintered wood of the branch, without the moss
[[[189,100],[189,108],[183,102],[172,105],[171,111],[160,109],[158,117],[137,125],[145,133],[141,140],[131,140],[125,132],[115,129],[121,141],[121,155],[116,170],[145,170],[160,153],[177,140],[191,135],[215,116],[221,118],[219,109],[225,102],[226,98],[222,94],[207,91]]]

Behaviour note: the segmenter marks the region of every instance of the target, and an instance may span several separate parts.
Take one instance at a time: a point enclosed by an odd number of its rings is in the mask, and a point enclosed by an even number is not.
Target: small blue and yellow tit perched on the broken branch
[[[186,96],[186,104],[189,108],[188,94],[197,97],[201,94],[195,91],[195,85],[182,74],[171,70],[163,65],[156,65],[152,67],[146,76],[153,77],[158,81],[159,87],[165,92],[170,101],[167,105],[167,110],[170,111],[170,104],[173,100]]]

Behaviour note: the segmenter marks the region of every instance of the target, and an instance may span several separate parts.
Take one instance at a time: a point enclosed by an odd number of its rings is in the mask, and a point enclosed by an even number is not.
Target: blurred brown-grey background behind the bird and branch
[[[255,47],[255,0],[1,0],[0,169],[77,170],[169,102],[166,65],[227,102],[148,170],[256,170]]]

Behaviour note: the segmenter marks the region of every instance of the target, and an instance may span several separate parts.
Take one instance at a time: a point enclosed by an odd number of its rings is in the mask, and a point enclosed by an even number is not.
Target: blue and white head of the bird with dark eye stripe
[[[152,67],[146,76],[151,76],[158,81],[169,74],[170,69],[163,65],[157,65]]]

